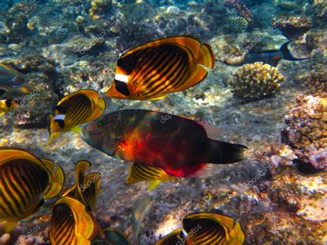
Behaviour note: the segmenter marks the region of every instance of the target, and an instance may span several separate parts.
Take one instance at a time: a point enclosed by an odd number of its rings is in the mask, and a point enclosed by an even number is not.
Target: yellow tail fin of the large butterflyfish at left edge
[[[65,173],[61,166],[57,166],[50,177],[49,186],[44,192],[44,199],[56,197],[61,192],[63,184],[65,184]]]

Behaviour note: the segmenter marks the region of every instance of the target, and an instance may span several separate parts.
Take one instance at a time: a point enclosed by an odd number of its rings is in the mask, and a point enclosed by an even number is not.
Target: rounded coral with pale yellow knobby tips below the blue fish
[[[235,97],[247,101],[271,97],[280,91],[285,81],[278,68],[262,62],[241,66],[228,81]]]

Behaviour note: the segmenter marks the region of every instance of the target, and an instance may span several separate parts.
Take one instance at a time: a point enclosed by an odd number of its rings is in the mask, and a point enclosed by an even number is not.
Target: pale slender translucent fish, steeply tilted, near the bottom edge
[[[132,226],[133,226],[133,240],[132,244],[137,244],[137,237],[141,231],[141,224],[146,214],[150,210],[152,202],[155,200],[154,197],[142,197],[141,200],[137,201],[134,206],[133,216],[132,216]]]

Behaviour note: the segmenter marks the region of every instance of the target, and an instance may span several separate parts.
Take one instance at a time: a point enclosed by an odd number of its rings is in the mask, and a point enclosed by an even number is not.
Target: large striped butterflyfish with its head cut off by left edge
[[[20,148],[0,147],[0,222],[9,232],[35,213],[43,199],[57,196],[65,175],[52,161]]]

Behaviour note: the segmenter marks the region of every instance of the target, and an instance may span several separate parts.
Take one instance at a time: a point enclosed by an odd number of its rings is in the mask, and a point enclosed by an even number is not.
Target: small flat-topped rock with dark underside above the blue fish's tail
[[[299,39],[299,37],[308,32],[312,26],[310,17],[306,16],[278,17],[274,19],[274,21],[279,22],[277,28],[290,40]]]

